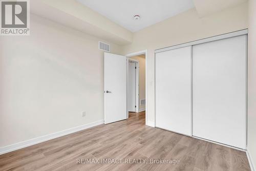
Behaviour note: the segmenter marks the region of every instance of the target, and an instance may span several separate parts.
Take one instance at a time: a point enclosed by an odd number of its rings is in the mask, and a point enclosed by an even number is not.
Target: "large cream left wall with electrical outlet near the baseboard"
[[[98,40],[35,15],[30,36],[0,37],[0,147],[104,119]]]

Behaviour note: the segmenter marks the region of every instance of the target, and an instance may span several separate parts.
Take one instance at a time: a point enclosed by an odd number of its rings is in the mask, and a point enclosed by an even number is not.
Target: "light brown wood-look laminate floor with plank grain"
[[[77,164],[77,159],[99,163]],[[101,159],[144,159],[106,164]],[[178,164],[151,159],[179,160]],[[82,160],[80,160],[82,161]],[[133,160],[131,160],[133,162]],[[147,163],[146,163],[147,162]],[[0,156],[0,170],[250,170],[245,152],[145,125],[145,113]]]

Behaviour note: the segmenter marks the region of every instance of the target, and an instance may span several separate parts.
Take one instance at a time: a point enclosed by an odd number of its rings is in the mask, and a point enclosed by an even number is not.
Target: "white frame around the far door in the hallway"
[[[132,62],[135,62],[135,67],[137,68],[135,70],[135,84],[136,84],[136,88],[135,88],[135,105],[136,105],[136,108],[135,108],[135,112],[138,113],[139,112],[139,94],[140,94],[140,89],[139,89],[139,81],[140,81],[140,75],[139,75],[139,68],[140,68],[140,62],[136,59],[133,59],[133,58],[129,58],[127,57],[127,102],[128,102],[128,87],[129,87],[129,62],[132,61]],[[127,107],[127,118],[129,118],[129,109]]]

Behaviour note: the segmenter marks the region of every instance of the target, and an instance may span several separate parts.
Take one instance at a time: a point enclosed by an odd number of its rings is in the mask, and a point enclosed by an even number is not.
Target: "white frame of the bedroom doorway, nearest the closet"
[[[129,53],[129,54],[126,54],[125,56],[127,57],[127,58],[129,58],[129,57],[132,57],[132,56],[138,56],[138,55],[142,55],[142,54],[145,54],[145,86],[146,86],[146,90],[145,90],[145,101],[146,101],[146,104],[145,104],[145,118],[146,118],[146,121],[145,121],[145,124],[146,125],[148,125],[148,126],[153,126],[153,127],[155,127],[155,125],[153,125],[152,123],[151,124],[149,124],[149,122],[148,122],[148,115],[147,115],[147,80],[148,80],[148,78],[147,78],[147,60],[148,60],[148,56],[147,56],[147,49],[145,49],[145,50],[141,50],[141,51],[137,51],[137,52],[133,52],[133,53]],[[129,115],[129,112],[127,112],[127,116]],[[128,118],[128,117],[127,117]]]

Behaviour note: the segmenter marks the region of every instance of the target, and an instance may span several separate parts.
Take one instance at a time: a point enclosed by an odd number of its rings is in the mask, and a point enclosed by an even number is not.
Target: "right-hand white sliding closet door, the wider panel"
[[[246,35],[193,46],[193,135],[246,148]]]

